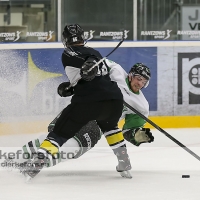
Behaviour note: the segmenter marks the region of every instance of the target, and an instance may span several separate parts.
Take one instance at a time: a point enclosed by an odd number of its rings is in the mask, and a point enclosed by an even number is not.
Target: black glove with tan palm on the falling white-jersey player
[[[124,138],[135,146],[140,146],[142,143],[151,143],[154,141],[154,137],[149,128],[131,129],[124,133]]]

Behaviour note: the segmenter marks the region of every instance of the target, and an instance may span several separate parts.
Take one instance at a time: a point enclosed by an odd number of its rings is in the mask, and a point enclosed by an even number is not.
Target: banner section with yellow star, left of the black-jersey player
[[[57,86],[66,81],[60,61],[62,50],[0,51],[1,117],[58,113],[66,104]]]

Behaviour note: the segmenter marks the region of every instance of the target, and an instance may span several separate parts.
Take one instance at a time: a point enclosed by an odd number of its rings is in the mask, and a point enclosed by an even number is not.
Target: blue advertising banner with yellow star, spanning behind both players
[[[106,56],[113,48],[96,48]],[[66,104],[57,86],[67,80],[61,62],[63,49],[0,50],[0,116],[55,115]],[[150,110],[157,110],[157,48],[119,48],[110,57],[127,72],[137,62],[151,69],[143,92]]]

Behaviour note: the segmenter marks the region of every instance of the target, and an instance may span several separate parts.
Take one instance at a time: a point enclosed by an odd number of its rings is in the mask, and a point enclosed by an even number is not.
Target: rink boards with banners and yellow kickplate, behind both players
[[[87,45],[105,56],[117,44]],[[136,62],[150,67],[150,84],[143,93],[155,123],[163,128],[199,127],[199,46],[198,42],[124,42],[109,58],[127,72]],[[69,103],[56,92],[68,80],[62,52],[61,43],[0,44],[0,134],[13,132],[13,127],[16,132],[46,131]]]

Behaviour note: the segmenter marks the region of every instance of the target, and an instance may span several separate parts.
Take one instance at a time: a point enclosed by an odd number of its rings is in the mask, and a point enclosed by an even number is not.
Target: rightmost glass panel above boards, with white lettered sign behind
[[[137,40],[199,40],[200,0],[137,0]]]

